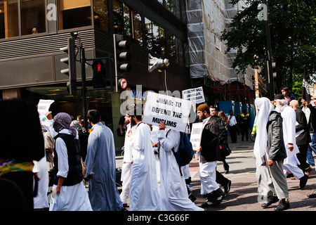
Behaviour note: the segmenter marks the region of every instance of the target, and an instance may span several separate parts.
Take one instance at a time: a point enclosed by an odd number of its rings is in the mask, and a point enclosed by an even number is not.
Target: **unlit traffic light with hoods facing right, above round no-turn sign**
[[[131,71],[131,54],[129,53],[129,41],[124,40],[121,34],[114,34],[114,63],[116,66],[117,77],[125,77],[126,72]]]

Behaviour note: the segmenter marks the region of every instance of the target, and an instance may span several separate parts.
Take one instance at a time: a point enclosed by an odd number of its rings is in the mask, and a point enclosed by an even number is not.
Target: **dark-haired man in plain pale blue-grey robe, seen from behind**
[[[101,122],[98,110],[88,111],[92,131],[88,137],[86,176],[93,211],[124,210],[116,186],[116,162],[113,133]]]

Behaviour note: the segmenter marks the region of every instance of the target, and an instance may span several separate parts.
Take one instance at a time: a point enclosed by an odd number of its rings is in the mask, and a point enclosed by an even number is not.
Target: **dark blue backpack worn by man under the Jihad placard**
[[[168,136],[169,130],[166,134]],[[180,146],[178,152],[175,152],[172,148],[173,154],[178,162],[179,167],[185,166],[191,162],[193,158],[193,148],[189,137],[184,132],[180,132]]]

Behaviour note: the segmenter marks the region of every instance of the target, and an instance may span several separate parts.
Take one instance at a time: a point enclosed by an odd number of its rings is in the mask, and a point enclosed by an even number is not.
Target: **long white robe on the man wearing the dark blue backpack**
[[[179,165],[173,151],[178,152],[180,133],[171,130],[166,137],[164,130],[157,131],[161,147],[160,162],[160,210],[161,211],[203,211],[188,198],[185,179],[180,175]],[[180,167],[183,174],[183,167]]]

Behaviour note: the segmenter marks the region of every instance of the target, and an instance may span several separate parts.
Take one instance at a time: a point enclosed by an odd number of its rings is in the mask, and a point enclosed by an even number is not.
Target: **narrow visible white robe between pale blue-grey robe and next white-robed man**
[[[135,126],[131,127],[131,124],[127,124],[126,126],[126,134],[124,140],[124,158],[121,165],[121,194],[119,197],[121,198],[121,202],[123,204],[126,203],[127,197],[129,196],[129,186],[131,184],[131,169],[132,169],[132,155],[131,155],[131,146],[130,139],[131,137],[127,136],[129,131],[135,132]]]

